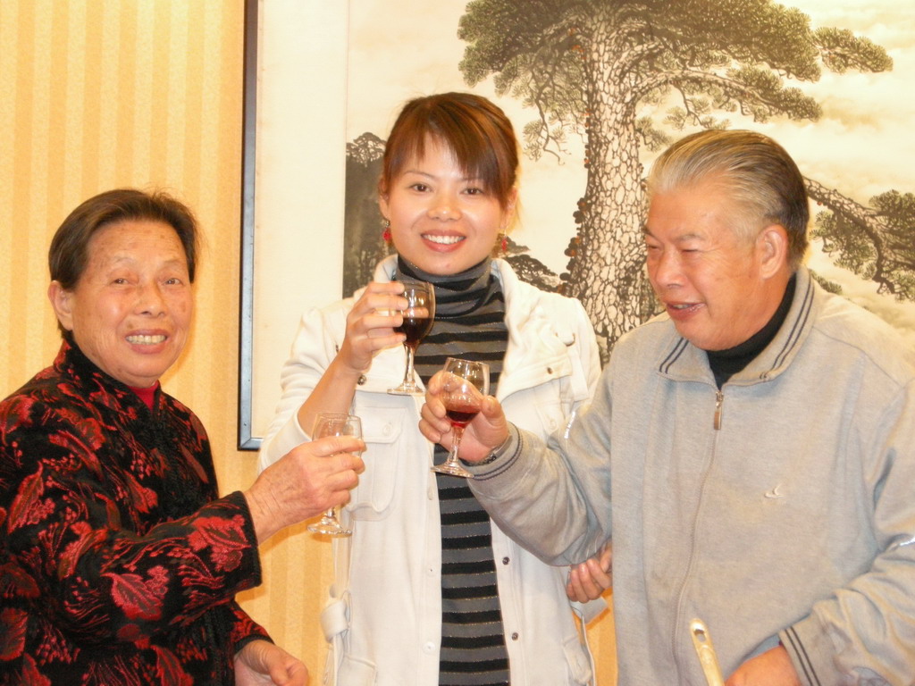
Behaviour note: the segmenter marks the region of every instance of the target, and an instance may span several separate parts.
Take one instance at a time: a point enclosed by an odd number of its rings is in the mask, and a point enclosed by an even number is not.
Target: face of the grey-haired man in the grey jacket
[[[727,193],[706,182],[651,198],[645,230],[648,276],[681,336],[724,350],[764,327],[783,287],[768,278],[771,245],[736,235]],[[781,230],[783,231],[783,230]]]

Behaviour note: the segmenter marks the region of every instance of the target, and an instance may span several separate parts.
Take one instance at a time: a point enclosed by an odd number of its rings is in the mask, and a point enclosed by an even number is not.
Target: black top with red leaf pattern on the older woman
[[[187,407],[152,410],[64,343],[0,402],[0,684],[233,684],[267,638],[241,493]]]

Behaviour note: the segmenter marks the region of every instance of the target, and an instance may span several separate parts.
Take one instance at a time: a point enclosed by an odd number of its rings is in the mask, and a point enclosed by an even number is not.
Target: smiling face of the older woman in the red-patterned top
[[[52,282],[51,304],[99,369],[147,388],[178,359],[193,315],[178,233],[160,221],[118,222],[92,236],[88,257],[72,291]]]

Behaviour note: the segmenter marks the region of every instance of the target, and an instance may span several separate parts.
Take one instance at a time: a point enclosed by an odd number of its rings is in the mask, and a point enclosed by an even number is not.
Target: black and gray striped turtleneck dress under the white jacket
[[[508,344],[505,300],[490,260],[454,276],[421,272],[403,260],[398,271],[436,286],[436,321],[416,350],[416,372],[427,382],[449,357],[490,365],[495,394]],[[435,462],[447,451],[436,445]],[[442,646],[440,686],[509,683],[490,518],[467,479],[436,475],[442,525]]]

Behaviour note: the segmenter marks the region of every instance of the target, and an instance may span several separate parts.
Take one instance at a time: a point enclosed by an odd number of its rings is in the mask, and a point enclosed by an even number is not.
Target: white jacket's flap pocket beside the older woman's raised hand
[[[403,408],[371,407],[359,408],[356,413],[362,420],[365,471],[346,509],[354,520],[382,520],[391,507],[402,468],[400,441],[407,412]]]

